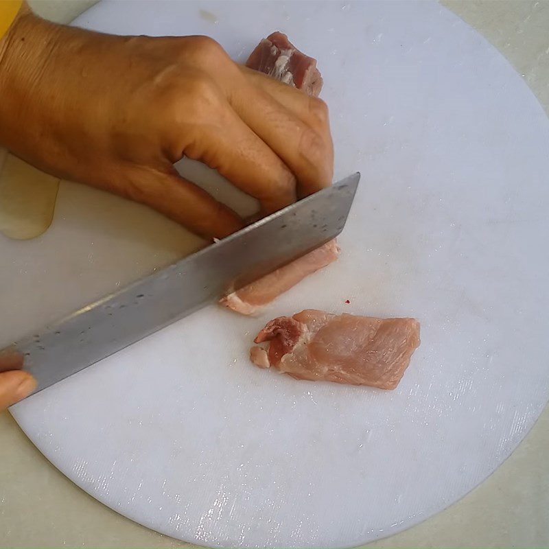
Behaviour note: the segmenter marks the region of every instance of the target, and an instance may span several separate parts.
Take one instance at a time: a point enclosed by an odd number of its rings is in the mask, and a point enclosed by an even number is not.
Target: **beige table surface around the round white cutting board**
[[[2,1],[2,0],[0,0]],[[93,0],[34,0],[71,21]],[[549,113],[549,1],[444,1],[498,47]],[[549,154],[549,151],[548,151]],[[463,500],[369,547],[549,547],[549,408],[509,460]],[[60,474],[0,414],[1,547],[182,547],[118,515]]]

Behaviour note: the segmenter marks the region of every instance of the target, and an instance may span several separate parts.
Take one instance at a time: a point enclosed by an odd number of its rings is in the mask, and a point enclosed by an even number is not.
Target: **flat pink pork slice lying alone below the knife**
[[[250,359],[296,379],[394,389],[419,347],[413,318],[335,315],[308,309],[274,318],[262,329]]]

